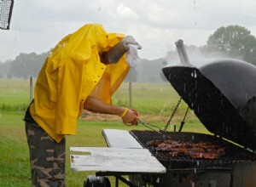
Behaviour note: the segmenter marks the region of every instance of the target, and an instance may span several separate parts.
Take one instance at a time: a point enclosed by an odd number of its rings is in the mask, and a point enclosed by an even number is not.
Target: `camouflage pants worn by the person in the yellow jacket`
[[[26,122],[32,186],[65,186],[66,140],[56,143],[37,123]]]

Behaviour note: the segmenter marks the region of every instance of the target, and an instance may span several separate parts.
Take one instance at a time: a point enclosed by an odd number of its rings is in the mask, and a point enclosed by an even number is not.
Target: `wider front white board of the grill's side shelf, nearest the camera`
[[[166,173],[166,167],[146,149],[71,147],[70,150],[73,171]]]

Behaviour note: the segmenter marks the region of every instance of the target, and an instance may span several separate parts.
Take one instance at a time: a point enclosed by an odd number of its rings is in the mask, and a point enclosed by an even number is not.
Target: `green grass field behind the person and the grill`
[[[29,103],[29,80],[0,79],[0,186],[31,186],[28,148],[22,118]],[[136,108],[144,122],[164,128],[179,99],[172,87],[166,84],[133,83],[132,108]],[[124,83],[113,96],[113,105],[129,106],[128,83]],[[170,128],[179,127],[187,105],[182,103],[173,117]],[[92,120],[93,119],[93,120]],[[67,136],[67,186],[83,186],[84,178],[91,173],[70,170],[69,147],[106,147],[103,128],[147,129],[142,125],[126,127],[119,117],[91,117],[79,119],[77,134]],[[189,111],[183,131],[208,133],[207,129]],[[111,178],[113,181],[113,178]],[[121,185],[120,186],[125,186]]]

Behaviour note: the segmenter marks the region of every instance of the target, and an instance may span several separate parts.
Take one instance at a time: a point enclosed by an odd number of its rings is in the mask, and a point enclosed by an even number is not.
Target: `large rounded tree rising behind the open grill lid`
[[[256,65],[256,38],[242,26],[220,27],[207,41],[207,50],[227,54]]]

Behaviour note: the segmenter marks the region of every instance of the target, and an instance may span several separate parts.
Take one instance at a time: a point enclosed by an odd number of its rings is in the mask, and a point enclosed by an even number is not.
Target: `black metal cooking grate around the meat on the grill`
[[[205,168],[205,167],[230,167],[233,163],[239,162],[253,162],[256,161],[256,154],[241,148],[236,144],[232,144],[224,139],[219,139],[212,135],[205,133],[175,133],[175,132],[156,132],[156,131],[138,131],[132,130],[131,135],[137,139],[137,141],[147,148],[153,156],[155,156],[167,169],[176,168]],[[212,144],[218,144],[224,148],[225,155],[220,158],[208,160],[208,159],[193,159],[189,156],[169,156],[168,152],[156,150],[153,147],[148,147],[147,142],[151,140],[164,141],[166,139],[172,139],[175,141],[199,143],[199,142],[211,142]]]

